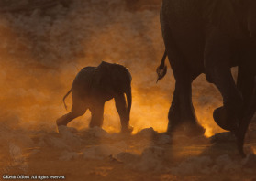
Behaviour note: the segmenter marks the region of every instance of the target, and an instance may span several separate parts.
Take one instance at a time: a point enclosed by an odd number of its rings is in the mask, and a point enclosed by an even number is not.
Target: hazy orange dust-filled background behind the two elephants
[[[172,69],[156,84],[164,51],[161,0],[0,1],[0,122],[15,130],[55,130],[66,113],[62,97],[80,69],[102,60],[126,66],[133,77],[130,123],[135,132],[164,132],[174,89]],[[56,3],[57,2],[57,3]],[[206,135],[220,132],[212,119],[221,105],[205,76],[194,82],[193,100]],[[71,96],[66,100],[72,107]],[[90,112],[69,126],[86,128]],[[4,126],[3,126],[4,125]],[[106,103],[104,128],[119,131],[114,101]]]

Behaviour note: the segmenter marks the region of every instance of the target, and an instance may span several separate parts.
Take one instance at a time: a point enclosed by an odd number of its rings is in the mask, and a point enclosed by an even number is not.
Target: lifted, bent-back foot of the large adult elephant
[[[237,112],[228,113],[225,107],[219,107],[214,111],[213,117],[219,127],[236,133],[239,127],[239,120],[234,115],[236,113]]]

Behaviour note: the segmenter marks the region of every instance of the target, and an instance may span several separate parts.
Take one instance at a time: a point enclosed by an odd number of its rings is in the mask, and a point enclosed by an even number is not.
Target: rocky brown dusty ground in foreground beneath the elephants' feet
[[[2,129],[3,130],[3,129]],[[1,140],[2,174],[65,176],[67,180],[255,180],[256,132],[241,159],[234,137],[173,139],[152,128],[135,135],[100,128],[57,132],[7,131]],[[252,139],[253,138],[253,139]],[[6,146],[8,145],[8,146]]]

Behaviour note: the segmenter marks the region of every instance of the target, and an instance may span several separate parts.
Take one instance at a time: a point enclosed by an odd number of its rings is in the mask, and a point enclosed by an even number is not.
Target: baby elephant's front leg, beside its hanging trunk
[[[133,128],[129,125],[129,115],[125,95],[123,93],[115,96],[117,112],[121,122],[121,132],[131,133]]]

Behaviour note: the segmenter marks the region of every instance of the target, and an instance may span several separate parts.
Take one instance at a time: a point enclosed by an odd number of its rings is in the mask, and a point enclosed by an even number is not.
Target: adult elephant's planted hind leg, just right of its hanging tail
[[[196,76],[192,75],[191,69],[185,64],[186,59],[182,51],[184,49],[175,44],[171,29],[163,22],[161,22],[161,27],[165,48],[176,80],[173,102],[168,114],[167,132],[172,133],[184,126],[184,131],[188,135],[204,134],[205,129],[198,124],[192,104],[191,83]]]

